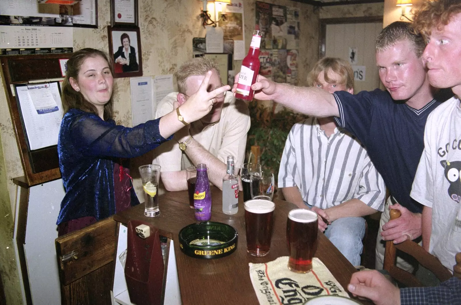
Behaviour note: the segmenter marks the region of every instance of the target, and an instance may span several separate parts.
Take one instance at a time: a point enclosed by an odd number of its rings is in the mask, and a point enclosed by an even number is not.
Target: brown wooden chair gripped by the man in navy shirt
[[[400,211],[395,209],[390,210],[389,214],[391,220],[401,215]],[[400,244],[394,244],[392,240],[388,240],[384,251],[383,268],[389,272],[390,276],[407,287],[423,287],[424,285],[413,274],[396,266],[396,249],[414,257],[422,266],[431,270],[441,282],[452,276],[451,272],[435,256],[426,252],[413,240],[405,240]]]

